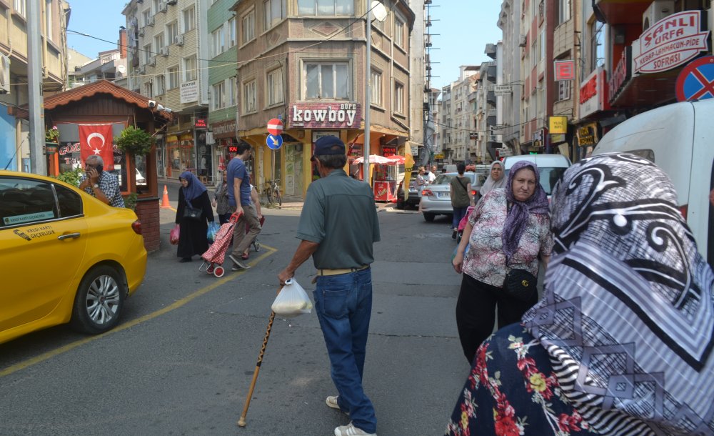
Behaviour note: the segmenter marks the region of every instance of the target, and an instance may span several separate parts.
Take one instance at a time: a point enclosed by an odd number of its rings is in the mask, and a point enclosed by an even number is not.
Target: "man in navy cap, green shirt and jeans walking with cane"
[[[321,178],[308,187],[298,224],[301,242],[278,279],[284,284],[313,257],[315,311],[338,393],[326,403],[351,418],[335,435],[376,436],[374,407],[362,387],[372,312],[372,246],[379,241],[374,195],[368,184],[343,170],[347,156],[339,138],[318,139],[311,160]]]

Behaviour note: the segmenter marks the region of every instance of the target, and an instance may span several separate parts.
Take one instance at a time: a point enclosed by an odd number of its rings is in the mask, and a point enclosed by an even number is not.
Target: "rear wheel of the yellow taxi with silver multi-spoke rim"
[[[94,267],[77,289],[71,327],[93,335],[111,330],[119,322],[125,296],[126,285],[116,269],[108,265]]]

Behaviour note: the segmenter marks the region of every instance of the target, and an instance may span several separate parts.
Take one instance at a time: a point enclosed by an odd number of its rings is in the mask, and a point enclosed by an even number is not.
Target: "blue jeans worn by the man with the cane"
[[[338,405],[349,412],[355,427],[374,433],[377,418],[372,402],[362,388],[372,312],[371,269],[318,276],[313,296],[330,357],[332,381],[339,395]]]

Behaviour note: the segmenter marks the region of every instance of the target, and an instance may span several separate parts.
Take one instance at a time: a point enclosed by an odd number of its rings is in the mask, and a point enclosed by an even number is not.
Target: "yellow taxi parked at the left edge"
[[[0,343],[116,326],[146,272],[141,222],[50,177],[0,171]]]

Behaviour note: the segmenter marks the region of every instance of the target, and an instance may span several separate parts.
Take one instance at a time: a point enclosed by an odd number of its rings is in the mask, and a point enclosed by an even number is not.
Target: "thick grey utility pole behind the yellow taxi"
[[[44,97],[42,96],[42,51],[40,0],[27,0],[27,81],[30,114],[30,171],[47,175],[44,149]]]

